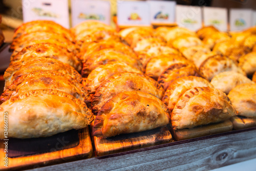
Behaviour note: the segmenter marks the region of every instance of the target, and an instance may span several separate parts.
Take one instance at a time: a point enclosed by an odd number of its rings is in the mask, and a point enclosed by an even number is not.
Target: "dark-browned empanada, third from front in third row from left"
[[[174,80],[190,75],[202,77],[193,63],[174,63],[164,70],[164,72],[159,76],[157,82],[166,91],[169,84]]]

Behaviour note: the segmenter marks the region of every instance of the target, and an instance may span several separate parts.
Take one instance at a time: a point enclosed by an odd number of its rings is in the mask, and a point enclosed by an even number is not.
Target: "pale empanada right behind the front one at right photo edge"
[[[237,87],[242,83],[252,83],[252,81],[243,74],[234,71],[226,71],[215,75],[210,83],[216,89],[228,94],[234,87]]]

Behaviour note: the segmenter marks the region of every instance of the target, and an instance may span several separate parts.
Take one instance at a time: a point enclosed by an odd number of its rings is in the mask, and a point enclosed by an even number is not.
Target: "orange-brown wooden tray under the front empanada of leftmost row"
[[[63,133],[62,133],[63,134]],[[86,127],[85,129],[78,130],[78,143],[76,146],[62,149],[61,146],[65,146],[65,139],[61,138],[58,139],[59,143],[55,144],[55,150],[60,149],[58,151],[51,150],[47,153],[41,153],[41,154],[35,154],[35,155],[25,155],[20,156],[17,154],[18,157],[8,157],[8,167],[4,166],[4,158],[5,152],[4,152],[4,141],[1,140],[1,146],[0,146],[0,156],[2,163],[0,165],[0,170],[5,169],[29,169],[29,168],[37,168],[41,166],[48,166],[52,164],[58,164],[63,163],[67,161],[74,161],[78,159],[84,159],[84,158],[90,158],[93,155],[93,147],[92,142],[90,138],[89,128]],[[10,145],[8,143],[8,145]],[[30,144],[28,143],[28,146]],[[33,147],[34,148],[34,147]],[[18,147],[16,148],[18,149]],[[9,149],[8,149],[9,150]],[[22,151],[22,149],[21,149]],[[8,155],[9,155],[8,151]],[[27,153],[27,152],[26,152]],[[13,155],[13,153],[12,153]],[[14,154],[15,155],[15,154]]]

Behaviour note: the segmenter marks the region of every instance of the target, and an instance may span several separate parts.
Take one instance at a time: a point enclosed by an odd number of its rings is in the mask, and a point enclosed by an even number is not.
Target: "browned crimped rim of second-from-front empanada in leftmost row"
[[[36,72],[32,72],[32,73],[29,73],[26,75],[19,76],[17,79],[15,79],[12,82],[12,84],[0,96],[0,104],[5,102],[6,100],[8,100],[11,97],[12,93],[14,91],[16,91],[16,87],[20,83],[23,83],[25,80],[31,79],[34,76],[40,76],[42,74],[44,76],[59,76],[59,77],[67,78],[74,85],[74,87],[76,87],[77,89],[79,89],[81,91],[81,94],[79,93],[79,95],[84,99],[84,102],[85,103],[91,102],[91,96],[87,92],[87,90],[82,86],[81,83],[79,83],[76,79],[72,78],[71,76],[62,74],[58,71],[36,71]],[[44,76],[42,76],[42,77],[44,77]]]

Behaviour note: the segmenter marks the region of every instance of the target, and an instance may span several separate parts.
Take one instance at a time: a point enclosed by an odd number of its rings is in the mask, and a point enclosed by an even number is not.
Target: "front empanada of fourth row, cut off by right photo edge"
[[[232,102],[238,115],[256,118],[256,84],[244,83],[233,88],[228,98]]]

